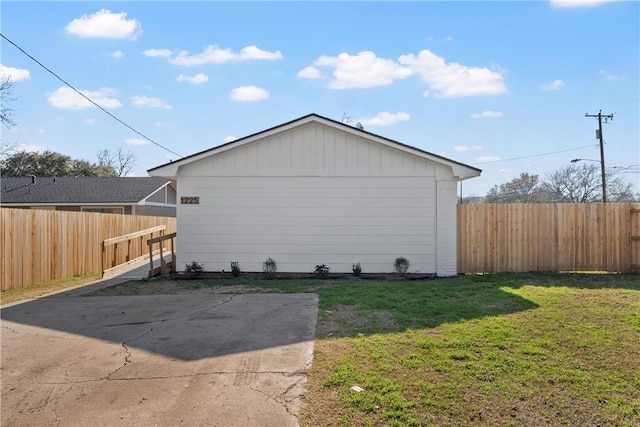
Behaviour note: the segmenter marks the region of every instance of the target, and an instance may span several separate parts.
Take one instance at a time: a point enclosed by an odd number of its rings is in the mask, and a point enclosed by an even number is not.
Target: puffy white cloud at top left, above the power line
[[[126,13],[112,13],[101,9],[91,15],[71,21],[65,29],[67,33],[83,38],[135,40],[142,33],[140,22],[126,19]]]

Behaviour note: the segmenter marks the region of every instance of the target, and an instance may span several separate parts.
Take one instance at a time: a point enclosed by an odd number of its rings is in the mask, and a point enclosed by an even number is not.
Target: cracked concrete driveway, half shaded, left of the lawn
[[[298,424],[316,295],[78,294],[2,309],[2,426]]]

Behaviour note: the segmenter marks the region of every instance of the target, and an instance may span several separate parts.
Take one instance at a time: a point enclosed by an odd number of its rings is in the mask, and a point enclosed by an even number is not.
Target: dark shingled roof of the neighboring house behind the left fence
[[[2,204],[137,204],[169,185],[151,177],[2,177]]]

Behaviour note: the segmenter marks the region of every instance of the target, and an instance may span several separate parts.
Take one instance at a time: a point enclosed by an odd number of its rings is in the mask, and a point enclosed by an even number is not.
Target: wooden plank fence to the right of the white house
[[[458,273],[633,272],[640,267],[640,205],[458,205]]]

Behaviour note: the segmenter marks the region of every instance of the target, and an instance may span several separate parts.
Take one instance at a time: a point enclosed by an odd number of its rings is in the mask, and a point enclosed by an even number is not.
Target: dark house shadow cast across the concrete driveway
[[[313,340],[317,295],[47,297],[1,317],[3,335],[10,321],[198,360]]]

